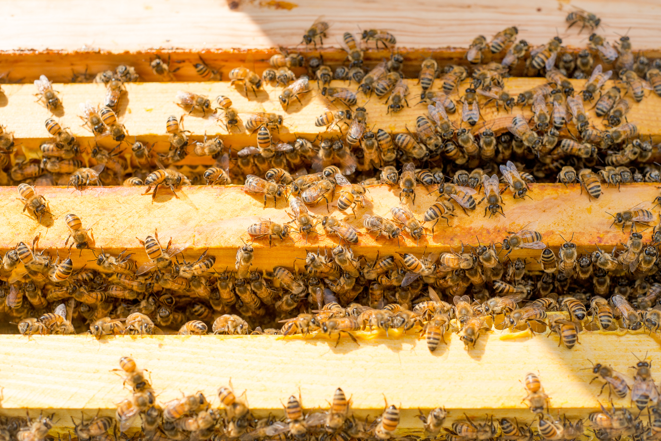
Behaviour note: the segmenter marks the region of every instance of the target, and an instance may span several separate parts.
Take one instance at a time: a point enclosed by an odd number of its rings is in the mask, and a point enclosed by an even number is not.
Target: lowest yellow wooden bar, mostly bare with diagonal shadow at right
[[[558,346],[557,335],[531,337],[529,331],[488,331],[474,349],[466,350],[457,334],[447,334],[446,344],[429,352],[416,335],[381,331],[356,333],[358,343],[342,337],[282,336],[119,336],[100,341],[91,336],[0,336],[0,415],[24,416],[44,409],[55,412],[56,426],[71,425],[81,411],[88,417],[100,412],[114,416],[115,403],[130,395],[122,378],[110,372],[121,356],[131,354],[140,368],[149,370],[159,403],[183,393],[202,391],[216,407],[217,388],[229,379],[235,391],[247,390],[247,399],[258,417],[282,415],[282,402],[301,390],[306,409],[327,409],[337,387],[352,395],[356,417],[381,414],[384,395],[401,407],[400,433],[421,432],[416,415],[445,406],[446,425],[485,413],[533,420],[522,399],[527,372],[539,372],[550,397],[551,413],[586,418],[607,399],[599,396],[601,381],[594,377],[593,362],[609,364],[633,376],[629,366],[645,353],[661,355],[659,339],[643,331],[583,332],[580,344],[568,350]],[[633,354],[632,354],[633,352]],[[652,364],[652,377],[661,368]],[[214,398],[214,399],[212,399]],[[629,397],[614,400],[629,406]],[[59,419],[59,421],[58,421]],[[136,426],[139,419],[136,421]]]

